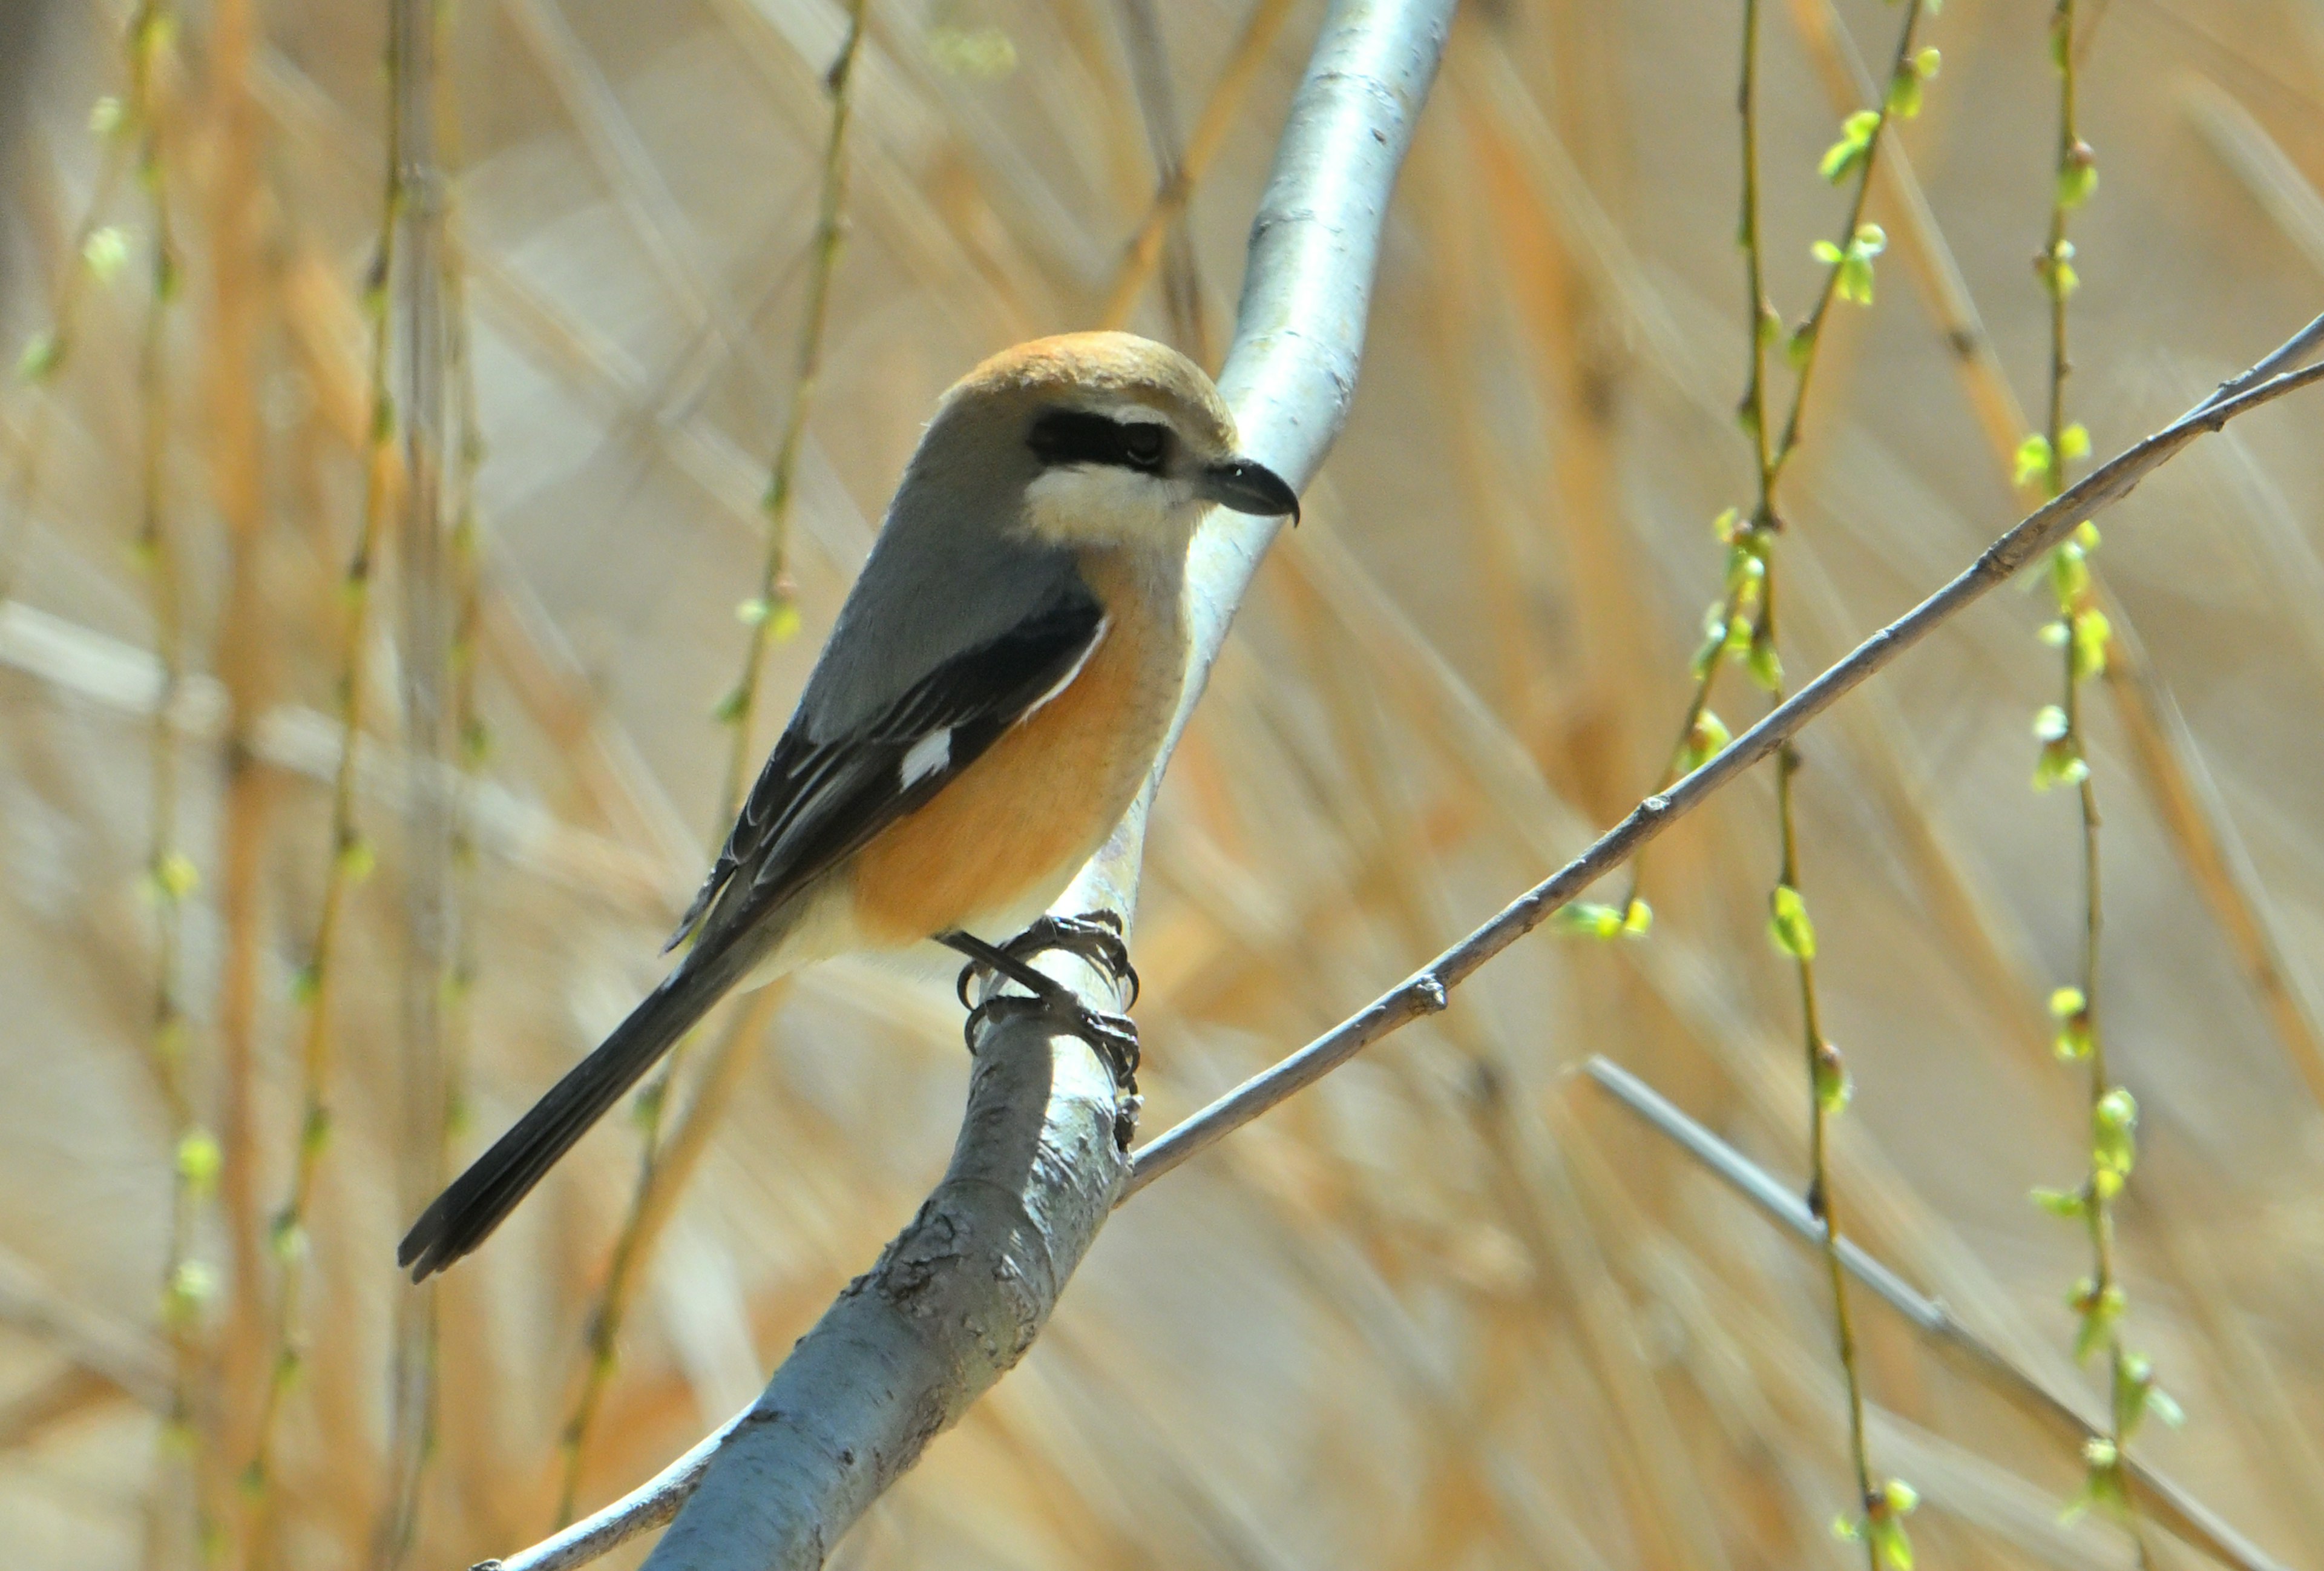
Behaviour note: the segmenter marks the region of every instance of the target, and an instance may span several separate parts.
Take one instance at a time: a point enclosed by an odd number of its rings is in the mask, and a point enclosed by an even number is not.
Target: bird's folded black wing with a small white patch
[[[953,655],[846,737],[818,741],[792,720],[669,948],[706,920],[718,930],[748,925],[937,795],[1074,674],[1104,620],[1104,607],[1076,583],[1002,637]],[[904,755],[944,730],[953,732],[946,765],[904,786]]]

